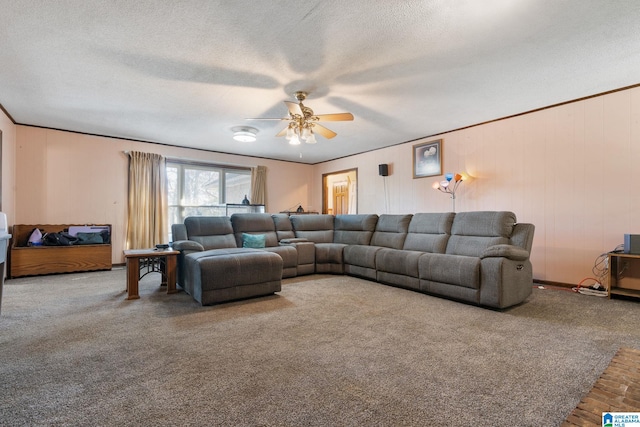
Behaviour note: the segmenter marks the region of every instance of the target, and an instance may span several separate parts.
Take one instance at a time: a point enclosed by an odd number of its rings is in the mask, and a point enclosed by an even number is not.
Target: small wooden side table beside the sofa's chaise
[[[173,249],[128,249],[124,251],[127,261],[127,299],[138,299],[138,282],[149,273],[162,274],[162,285],[167,293],[176,289],[176,267],[178,254]]]

